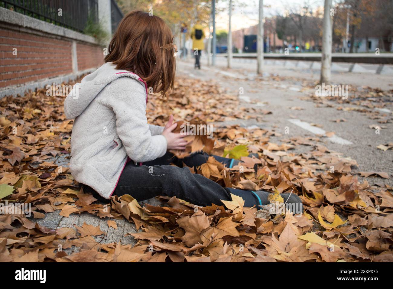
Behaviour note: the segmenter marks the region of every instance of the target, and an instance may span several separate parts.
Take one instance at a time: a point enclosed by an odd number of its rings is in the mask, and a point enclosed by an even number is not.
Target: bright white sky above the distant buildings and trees
[[[274,15],[283,15],[286,11],[286,7],[302,5],[307,0],[264,0],[264,15],[266,17]],[[232,31],[250,27],[258,24],[258,5],[259,0],[233,0],[233,12],[232,12]],[[309,0],[312,7],[323,6],[323,0]],[[240,4],[244,4],[240,7]],[[218,9],[224,11],[217,13],[216,15],[216,27],[217,30],[228,31],[228,5],[229,0],[221,0],[217,4]]]

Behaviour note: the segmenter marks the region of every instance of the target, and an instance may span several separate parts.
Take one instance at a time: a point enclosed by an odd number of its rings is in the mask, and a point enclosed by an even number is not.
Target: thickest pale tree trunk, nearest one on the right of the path
[[[322,57],[321,57],[321,79],[320,83],[329,85],[331,64],[332,64],[332,18],[330,9],[332,0],[325,0],[325,9],[323,12],[323,36],[322,36]]]

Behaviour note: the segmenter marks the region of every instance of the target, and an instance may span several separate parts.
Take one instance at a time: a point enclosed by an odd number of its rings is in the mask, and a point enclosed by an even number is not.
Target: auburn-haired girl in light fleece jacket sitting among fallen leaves
[[[143,201],[166,195],[209,206],[231,201],[232,193],[241,196],[247,207],[268,204],[268,191],[222,188],[182,168],[183,163],[196,168],[209,156],[195,153],[180,160],[168,152],[184,150],[187,145],[185,135],[173,132],[177,124],[172,116],[165,127],[147,123],[147,87],[161,94],[173,89],[174,53],[173,35],[160,17],[132,11],[121,20],[105,64],[84,77],[74,88],[77,94],[64,101],[66,117],[75,118],[70,161],[73,177],[85,191],[95,191],[104,199],[129,194]],[[227,168],[239,163],[214,158]],[[281,196],[287,206],[301,207],[297,195]]]

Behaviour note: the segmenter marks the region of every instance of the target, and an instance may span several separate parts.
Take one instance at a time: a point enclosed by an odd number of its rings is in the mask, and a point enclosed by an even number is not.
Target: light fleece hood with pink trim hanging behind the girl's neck
[[[127,70],[118,70],[112,63],[105,63],[93,73],[86,75],[81,83],[76,83],[73,86],[72,91],[64,100],[66,118],[72,120],[79,116],[101,90],[119,77],[130,77],[140,81],[147,94],[147,85],[138,75]]]

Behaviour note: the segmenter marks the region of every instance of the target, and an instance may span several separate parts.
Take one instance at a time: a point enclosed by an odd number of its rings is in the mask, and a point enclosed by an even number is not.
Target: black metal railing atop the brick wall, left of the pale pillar
[[[79,32],[89,17],[98,22],[97,0],[0,0],[0,6]]]

